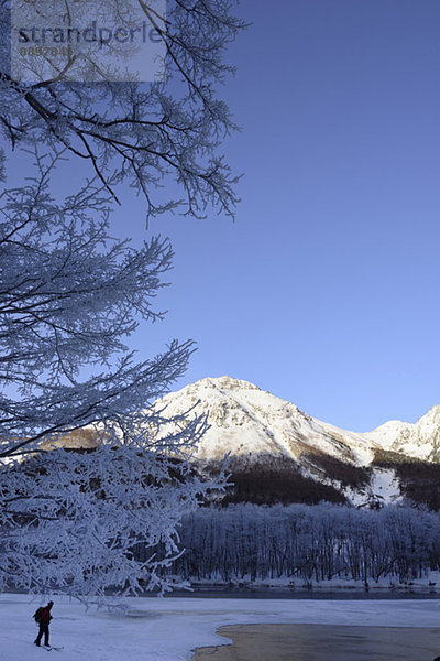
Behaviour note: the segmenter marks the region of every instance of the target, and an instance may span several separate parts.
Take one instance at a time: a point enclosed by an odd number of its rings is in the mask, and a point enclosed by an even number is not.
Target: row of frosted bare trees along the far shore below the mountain
[[[333,577],[407,583],[440,570],[440,516],[320,505],[201,509],[184,519],[174,572],[194,579]]]

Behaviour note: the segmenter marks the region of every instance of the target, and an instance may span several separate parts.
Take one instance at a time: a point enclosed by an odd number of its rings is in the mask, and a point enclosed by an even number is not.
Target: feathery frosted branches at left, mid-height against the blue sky
[[[94,182],[55,201],[55,161],[37,156],[35,180],[0,201],[3,457],[144,409],[182,376],[193,350],[173,340],[160,356],[134,361],[124,338],[140,319],[163,317],[152,303],[172,248],[161,238],[136,249],[111,239],[109,202]]]

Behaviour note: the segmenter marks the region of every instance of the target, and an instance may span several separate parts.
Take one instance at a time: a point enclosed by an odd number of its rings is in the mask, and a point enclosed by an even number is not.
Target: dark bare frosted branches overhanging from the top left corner
[[[52,11],[56,2],[50,3]],[[28,140],[47,148],[66,147],[74,159],[90,166],[114,197],[117,184],[129,181],[145,196],[147,215],[180,208],[202,216],[207,205],[233,214],[237,177],[218,151],[237,127],[217,90],[233,72],[224,62],[226,48],[244,26],[232,14],[237,2],[169,0],[166,18],[155,12],[152,2],[133,3],[154,26],[163,47],[162,80],[121,83],[103,77],[97,83],[89,75],[78,83],[66,79],[63,72],[35,83],[13,79],[11,8],[9,0],[0,3],[3,136],[12,147]],[[69,14],[75,2],[63,0],[62,4]],[[109,20],[122,20],[125,6],[122,0],[97,0],[86,7],[90,18],[101,11]],[[163,189],[155,193],[164,178],[173,195],[168,198]]]

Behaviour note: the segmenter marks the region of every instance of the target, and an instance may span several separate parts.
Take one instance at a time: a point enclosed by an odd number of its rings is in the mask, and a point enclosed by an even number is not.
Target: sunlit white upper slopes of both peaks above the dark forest
[[[210,429],[196,457],[215,459],[230,452],[252,462],[260,454],[282,454],[300,460],[304,454],[327,454],[355,466],[369,466],[377,451],[438,462],[440,407],[415,424],[391,421],[359,434],[339,429],[300,411],[292,402],[231,377],[206,378],[161,400],[169,414],[196,405],[208,414]]]

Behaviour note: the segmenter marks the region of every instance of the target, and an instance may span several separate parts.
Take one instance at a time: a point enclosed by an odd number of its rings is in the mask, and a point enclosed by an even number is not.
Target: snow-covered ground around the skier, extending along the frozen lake
[[[234,624],[332,624],[440,628],[440,600],[287,600],[131,598],[127,617],[54,597],[47,652],[33,640],[32,615],[47,599],[0,595],[0,659],[34,661],[184,661],[197,647],[224,644],[216,630]]]

